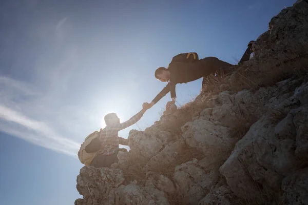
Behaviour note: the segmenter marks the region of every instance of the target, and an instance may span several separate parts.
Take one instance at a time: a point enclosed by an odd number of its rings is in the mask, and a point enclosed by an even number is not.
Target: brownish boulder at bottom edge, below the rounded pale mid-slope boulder
[[[175,169],[174,181],[177,192],[184,196],[186,204],[197,204],[217,182],[217,170],[203,168],[202,161],[194,159]]]

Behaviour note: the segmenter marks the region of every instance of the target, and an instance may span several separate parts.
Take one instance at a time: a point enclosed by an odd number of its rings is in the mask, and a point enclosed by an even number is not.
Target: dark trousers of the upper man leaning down
[[[207,74],[203,76],[202,80],[202,89],[206,85],[206,78],[209,74],[217,75],[227,75],[234,71],[235,65],[229,64],[223,60],[218,59],[217,57],[206,57],[200,59],[202,66],[206,69]]]

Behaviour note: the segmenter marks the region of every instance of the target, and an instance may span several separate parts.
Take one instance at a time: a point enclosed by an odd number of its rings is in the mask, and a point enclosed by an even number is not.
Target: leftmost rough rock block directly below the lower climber
[[[77,176],[76,188],[83,195],[83,200],[77,199],[75,203],[82,205],[112,204],[114,189],[125,180],[122,170],[83,167]],[[103,203],[103,202],[106,203]]]

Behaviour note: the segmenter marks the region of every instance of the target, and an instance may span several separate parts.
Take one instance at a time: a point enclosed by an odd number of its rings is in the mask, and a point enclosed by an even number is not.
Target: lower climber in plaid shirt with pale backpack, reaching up
[[[86,166],[95,168],[110,168],[112,163],[118,162],[119,144],[128,145],[128,140],[118,136],[120,130],[124,130],[138,122],[145,111],[150,108],[149,104],[144,103],[142,110],[136,115],[132,116],[129,120],[120,123],[120,118],[115,113],[105,115],[104,120],[106,127],[101,129],[100,132],[95,131],[85,139],[90,142],[85,146],[81,146],[78,153],[79,159]]]

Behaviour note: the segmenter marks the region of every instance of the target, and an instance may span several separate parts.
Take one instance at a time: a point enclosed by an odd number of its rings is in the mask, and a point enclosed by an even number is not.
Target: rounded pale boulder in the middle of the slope
[[[230,137],[229,128],[203,119],[187,122],[181,130],[187,145],[217,159],[225,158],[236,142]]]

